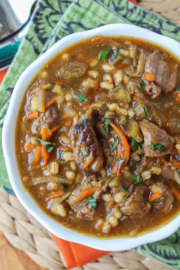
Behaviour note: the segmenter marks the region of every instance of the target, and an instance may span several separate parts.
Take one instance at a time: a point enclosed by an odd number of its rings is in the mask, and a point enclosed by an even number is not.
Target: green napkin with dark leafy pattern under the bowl
[[[40,0],[26,38],[0,86],[0,133],[14,85],[23,70],[64,36],[109,23],[135,24],[180,42],[179,26],[126,0]],[[2,158],[1,141],[0,156],[0,188],[14,194]],[[179,269],[180,229],[164,240],[137,247],[136,250]]]

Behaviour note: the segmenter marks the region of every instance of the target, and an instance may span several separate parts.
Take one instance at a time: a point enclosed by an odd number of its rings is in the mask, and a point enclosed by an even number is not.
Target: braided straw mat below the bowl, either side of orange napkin
[[[0,230],[16,248],[23,250],[38,265],[51,270],[66,269],[63,258],[49,232],[30,215],[19,200],[0,191]],[[132,250],[111,252],[95,262],[73,270],[170,270],[159,262]]]

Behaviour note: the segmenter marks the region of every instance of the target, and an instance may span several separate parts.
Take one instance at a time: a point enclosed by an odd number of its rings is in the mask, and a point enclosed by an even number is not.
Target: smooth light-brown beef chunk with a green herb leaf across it
[[[139,125],[144,136],[143,149],[146,156],[160,157],[166,154],[172,154],[173,143],[166,131],[145,119],[141,121]],[[167,149],[167,151],[161,151],[160,149],[153,150],[151,149],[151,143],[154,145],[161,144]]]

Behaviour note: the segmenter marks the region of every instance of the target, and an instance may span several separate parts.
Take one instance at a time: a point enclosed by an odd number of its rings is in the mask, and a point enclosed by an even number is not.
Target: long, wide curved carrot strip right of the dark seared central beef
[[[117,128],[116,125],[114,125],[112,122],[110,122],[110,125],[116,131],[120,139],[119,144],[116,147],[115,162],[113,164],[111,174],[120,176],[120,171],[122,167],[125,167],[125,165],[127,164],[129,160],[130,148],[129,148],[128,140],[126,139],[124,134],[122,134],[122,132],[119,130],[119,128]],[[124,159],[122,164],[119,164],[118,162],[116,162],[118,158]]]

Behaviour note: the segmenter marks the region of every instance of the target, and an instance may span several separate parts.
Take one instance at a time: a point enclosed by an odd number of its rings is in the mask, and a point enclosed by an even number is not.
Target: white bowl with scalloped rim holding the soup
[[[155,229],[154,231],[150,231],[136,237],[117,237],[105,239],[80,234],[78,232],[67,229],[64,226],[61,226],[58,222],[50,218],[38,207],[38,205],[34,202],[32,197],[29,195],[29,193],[27,193],[27,191],[22,185],[22,180],[20,179],[20,175],[17,169],[15,155],[15,125],[17,114],[19,111],[19,107],[17,106],[17,104],[21,104],[20,101],[22,100],[24,91],[26,91],[27,85],[29,85],[34,76],[38,73],[38,70],[40,70],[41,67],[50,58],[56,55],[57,52],[61,51],[62,49],[76,41],[97,35],[122,35],[127,37],[141,38],[143,40],[151,41],[163,46],[165,49],[168,49],[170,52],[180,58],[179,42],[134,25],[111,24],[85,32],[74,33],[65,38],[62,38],[48,51],[41,55],[36,61],[34,61],[29,67],[27,67],[26,70],[19,77],[14,87],[9,108],[4,120],[2,145],[8,176],[17,198],[27,209],[27,211],[29,211],[29,213],[32,214],[46,229],[52,232],[52,234],[67,241],[73,241],[100,250],[120,251],[131,249],[142,244],[147,244],[168,237],[180,227],[180,215],[177,215],[169,223],[161,226],[161,228]]]

